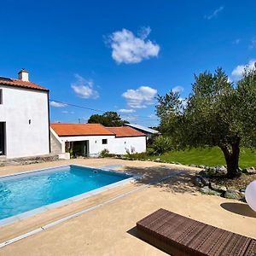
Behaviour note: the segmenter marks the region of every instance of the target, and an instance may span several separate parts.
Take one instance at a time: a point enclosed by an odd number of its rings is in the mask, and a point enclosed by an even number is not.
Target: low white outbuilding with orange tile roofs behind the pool
[[[100,124],[51,124],[52,152],[98,156],[103,149],[110,154],[142,153],[146,137],[131,127],[104,127]]]

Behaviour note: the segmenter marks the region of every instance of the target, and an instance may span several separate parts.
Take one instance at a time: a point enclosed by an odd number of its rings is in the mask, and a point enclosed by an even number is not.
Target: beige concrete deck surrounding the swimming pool
[[[0,175],[65,164],[96,167],[122,165],[123,167],[118,169],[145,174],[145,178],[138,183],[122,184],[100,195],[0,227],[0,242],[3,242],[74,212],[116,198],[90,212],[2,247],[0,255],[165,255],[139,240],[133,230],[139,219],[160,207],[206,224],[256,238],[256,213],[251,212],[246,204],[239,201],[196,192],[186,180],[186,175],[198,170],[192,167],[148,161],[79,159],[31,166],[5,166],[0,168]],[[162,183],[145,187],[148,182],[166,177],[175,170],[185,172]],[[130,194],[119,197],[125,193]]]

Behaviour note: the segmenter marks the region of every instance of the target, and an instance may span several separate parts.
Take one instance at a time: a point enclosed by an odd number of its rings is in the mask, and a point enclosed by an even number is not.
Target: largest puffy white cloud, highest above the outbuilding
[[[143,27],[138,36],[125,28],[113,32],[108,40],[112,48],[113,60],[119,64],[129,64],[156,57],[160,46],[147,39],[150,32],[150,27]]]

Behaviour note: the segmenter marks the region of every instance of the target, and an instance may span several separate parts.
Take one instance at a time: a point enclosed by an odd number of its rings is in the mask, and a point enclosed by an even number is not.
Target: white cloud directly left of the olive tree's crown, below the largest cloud
[[[156,94],[157,90],[149,86],[141,86],[137,90],[126,90],[122,96],[130,108],[147,108],[147,105],[154,104]]]

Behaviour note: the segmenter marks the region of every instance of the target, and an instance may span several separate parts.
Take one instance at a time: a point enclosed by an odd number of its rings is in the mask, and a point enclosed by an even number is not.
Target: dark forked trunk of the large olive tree
[[[237,177],[239,176],[239,154],[240,154],[240,148],[239,143],[233,143],[231,144],[231,147],[229,146],[222,146],[220,147],[224,153],[224,157],[227,164],[227,177]]]

